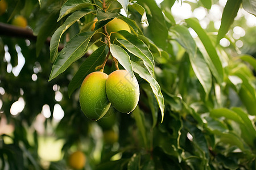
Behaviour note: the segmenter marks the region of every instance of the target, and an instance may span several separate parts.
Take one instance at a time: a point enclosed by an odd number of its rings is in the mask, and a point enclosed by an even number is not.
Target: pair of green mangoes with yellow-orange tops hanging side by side
[[[99,120],[112,105],[117,111],[129,113],[139,101],[139,84],[126,70],[116,70],[110,75],[101,71],[90,73],[82,82],[80,107],[85,116]]]

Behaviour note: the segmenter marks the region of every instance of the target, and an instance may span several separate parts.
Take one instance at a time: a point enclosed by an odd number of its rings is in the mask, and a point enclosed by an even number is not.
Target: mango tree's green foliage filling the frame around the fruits
[[[243,48],[230,33],[238,10],[256,14],[255,1],[228,0],[219,29],[211,22],[203,28],[197,18],[176,19],[173,0],[6,2],[0,169],[67,169],[76,150],[86,155],[84,169],[256,168],[255,26],[246,29],[247,41],[241,37],[248,42]],[[218,2],[182,3],[210,10]],[[26,29],[10,25],[16,15],[28,20]],[[114,18],[131,33],[118,31],[123,39],[110,42],[100,30]],[[99,32],[104,39],[93,42]],[[220,45],[223,38],[228,47]],[[139,104],[130,114],[110,107],[90,121],[79,106],[82,80],[117,66],[137,78]],[[55,142],[61,154],[53,158]]]

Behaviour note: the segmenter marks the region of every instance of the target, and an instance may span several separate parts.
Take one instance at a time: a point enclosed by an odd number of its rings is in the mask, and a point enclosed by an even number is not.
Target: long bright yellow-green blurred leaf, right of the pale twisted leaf
[[[218,54],[216,52],[216,49],[212,44],[212,41],[208,37],[205,30],[201,28],[200,23],[197,19],[189,18],[189,19],[185,19],[185,22],[188,24],[189,27],[195,30],[201,42],[203,42],[204,48],[209,55],[209,59],[205,59],[205,61],[210,62],[210,65],[209,65],[210,70],[212,71],[214,77],[218,80],[218,83],[221,83],[223,79],[223,68],[222,68],[220,58],[218,57]],[[208,56],[204,56],[204,57],[208,57]],[[214,68],[210,67],[212,65],[214,66]]]

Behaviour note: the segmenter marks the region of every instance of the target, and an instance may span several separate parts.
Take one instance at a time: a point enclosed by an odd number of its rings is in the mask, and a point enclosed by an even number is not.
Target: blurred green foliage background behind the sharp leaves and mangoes
[[[129,6],[128,18],[142,30],[141,39],[154,55],[155,79],[164,96],[163,123],[150,86],[139,77],[141,96],[132,113],[111,107],[100,121],[86,118],[79,90],[68,97],[68,84],[97,46],[48,82],[48,37],[67,19],[56,22],[64,1],[5,1],[0,16],[1,32],[5,29],[0,33],[0,169],[71,169],[68,159],[77,150],[85,154],[82,169],[256,169],[255,1],[136,1],[149,25]],[[126,15],[122,1],[106,2],[112,4],[109,11]],[[230,2],[238,4],[232,15],[223,12],[230,10]],[[101,1],[91,3],[101,6]],[[247,12],[248,3],[253,14]],[[32,36],[3,28],[18,15],[26,18]],[[69,27],[61,45],[94,17],[86,15]],[[221,30],[225,36],[218,44]],[[221,65],[209,61],[213,57]],[[105,73],[113,70],[107,62]]]

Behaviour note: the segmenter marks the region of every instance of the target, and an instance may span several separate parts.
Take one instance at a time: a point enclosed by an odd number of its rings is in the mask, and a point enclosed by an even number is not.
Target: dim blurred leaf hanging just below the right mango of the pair
[[[145,124],[145,117],[144,117],[144,113],[141,112],[141,110],[139,109],[139,106],[137,105],[137,107],[134,109],[133,112],[131,112],[132,115],[134,116],[134,119],[136,121],[136,125],[138,126],[139,131],[141,132],[142,135],[142,139],[143,139],[143,143],[144,146],[147,148],[147,135],[146,135],[146,124]]]

